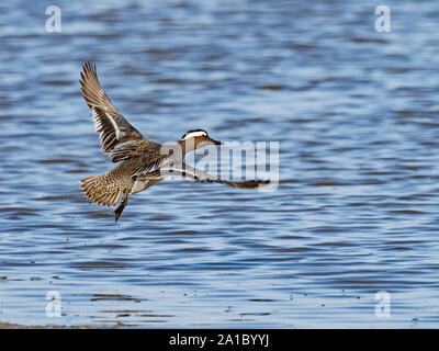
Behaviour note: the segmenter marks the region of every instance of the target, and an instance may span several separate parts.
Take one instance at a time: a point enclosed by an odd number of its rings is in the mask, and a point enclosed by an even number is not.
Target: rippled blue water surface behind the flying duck
[[[435,1],[394,4],[391,33],[358,1],[58,5],[46,33],[43,4],[0,4],[0,321],[437,327]],[[279,141],[279,189],[162,182],[114,224],[79,189],[111,167],[88,59],[153,140]]]

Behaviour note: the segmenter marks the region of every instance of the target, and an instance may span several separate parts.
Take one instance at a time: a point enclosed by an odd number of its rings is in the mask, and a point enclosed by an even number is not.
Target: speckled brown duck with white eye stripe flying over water
[[[128,195],[169,177],[194,182],[222,183],[240,189],[256,189],[269,183],[256,180],[219,180],[182,161],[175,162],[178,152],[164,152],[161,144],[145,139],[111,103],[98,80],[93,64],[83,65],[79,82],[83,99],[93,114],[95,131],[100,133],[101,150],[109,155],[112,162],[119,162],[106,173],[81,179],[81,189],[89,202],[109,207],[116,206],[124,195],[124,200],[114,211],[116,222],[128,203]],[[206,145],[221,145],[221,141],[212,139],[203,129],[188,131],[176,143],[182,156]]]

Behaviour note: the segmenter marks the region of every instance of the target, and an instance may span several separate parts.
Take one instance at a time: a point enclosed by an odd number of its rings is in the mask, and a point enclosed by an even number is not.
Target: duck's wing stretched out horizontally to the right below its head
[[[151,173],[151,176],[153,174],[157,177],[157,172]],[[257,189],[270,183],[270,181],[267,180],[246,180],[240,182],[222,180],[184,162],[181,162],[179,166],[172,165],[169,168],[160,168],[160,176],[162,178],[189,180],[191,182],[221,183],[238,189]]]

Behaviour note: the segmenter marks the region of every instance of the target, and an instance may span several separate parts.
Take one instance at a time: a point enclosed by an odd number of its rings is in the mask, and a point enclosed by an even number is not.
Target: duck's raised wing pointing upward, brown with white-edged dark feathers
[[[95,66],[86,63],[81,72],[81,90],[83,99],[93,113],[94,127],[100,133],[101,150],[110,154],[110,159],[117,162],[136,154],[138,147],[150,141],[133,127],[111,103],[103,91]]]

